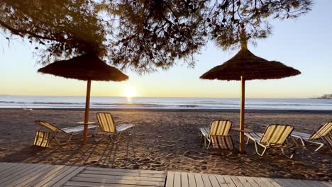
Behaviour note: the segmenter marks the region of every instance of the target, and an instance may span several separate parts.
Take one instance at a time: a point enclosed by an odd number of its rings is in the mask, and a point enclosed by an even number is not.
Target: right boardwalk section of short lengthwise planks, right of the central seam
[[[332,187],[325,181],[271,179],[248,176],[192,174],[168,171],[165,187]]]

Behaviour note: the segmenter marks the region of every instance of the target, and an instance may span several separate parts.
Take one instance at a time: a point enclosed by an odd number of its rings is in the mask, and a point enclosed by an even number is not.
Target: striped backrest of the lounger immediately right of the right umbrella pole
[[[281,147],[292,133],[292,125],[268,125],[260,138],[260,144],[270,147]]]

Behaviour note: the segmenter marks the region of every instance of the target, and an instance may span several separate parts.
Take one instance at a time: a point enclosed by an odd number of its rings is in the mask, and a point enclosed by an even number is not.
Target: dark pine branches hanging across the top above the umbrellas
[[[150,72],[193,54],[209,40],[238,47],[240,28],[255,42],[272,18],[297,18],[311,0],[2,0],[0,28],[38,47],[41,62],[94,52],[117,67]]]

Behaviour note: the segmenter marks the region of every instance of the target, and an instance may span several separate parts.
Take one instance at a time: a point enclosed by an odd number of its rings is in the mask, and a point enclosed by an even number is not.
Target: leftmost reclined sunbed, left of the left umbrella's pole
[[[57,142],[58,145],[65,145],[68,142],[70,142],[70,140],[72,140],[72,136],[73,135],[77,135],[81,132],[83,132],[84,130],[84,126],[83,125],[77,125],[75,127],[71,127],[71,128],[57,128],[55,125],[52,125],[51,123],[42,121],[42,120],[35,120],[35,123],[38,125],[43,126],[44,128],[47,128],[48,130],[50,130],[52,132],[51,138],[50,140],[52,140],[53,138],[55,139],[55,141]],[[88,129],[95,129],[96,125],[89,125]],[[68,140],[66,142],[60,143],[59,140],[57,140],[57,135],[67,135],[68,136]]]

